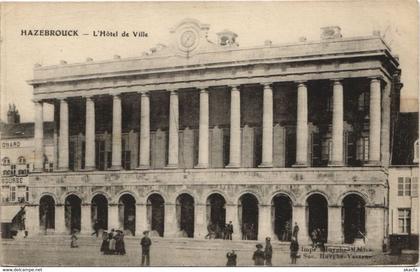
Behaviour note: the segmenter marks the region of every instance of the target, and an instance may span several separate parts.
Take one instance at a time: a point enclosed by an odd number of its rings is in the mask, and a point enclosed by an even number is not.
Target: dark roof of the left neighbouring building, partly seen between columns
[[[1,124],[1,139],[29,139],[34,137],[34,123]],[[44,138],[53,138],[54,122],[44,122]]]

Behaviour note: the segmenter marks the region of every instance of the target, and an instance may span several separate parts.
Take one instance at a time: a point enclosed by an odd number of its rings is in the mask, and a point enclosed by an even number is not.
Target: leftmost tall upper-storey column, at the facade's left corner
[[[44,113],[43,102],[35,101],[34,172],[44,170]]]

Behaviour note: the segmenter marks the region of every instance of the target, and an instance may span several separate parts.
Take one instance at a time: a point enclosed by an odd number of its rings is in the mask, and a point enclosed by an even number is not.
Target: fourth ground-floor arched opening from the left
[[[136,200],[132,195],[124,194],[118,201],[118,220],[124,233],[136,234]]]

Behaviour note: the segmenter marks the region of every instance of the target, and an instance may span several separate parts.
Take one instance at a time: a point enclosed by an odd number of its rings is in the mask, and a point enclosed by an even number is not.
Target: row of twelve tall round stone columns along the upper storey
[[[370,82],[370,130],[369,163],[380,160],[381,131],[381,85],[378,78]],[[343,166],[344,101],[343,85],[340,80],[333,83],[332,116],[332,159],[330,166]],[[295,167],[307,167],[308,163],[308,93],[306,82],[297,85],[297,131]],[[228,168],[241,165],[241,108],[239,86],[232,86],[230,105],[230,153]],[[35,103],[35,169],[42,170],[43,162],[43,106]],[[168,168],[178,167],[178,125],[179,100],[176,90],[170,91],[169,102],[169,145]],[[150,98],[141,93],[139,168],[150,167]],[[68,104],[60,101],[59,169],[67,170],[69,165]],[[121,169],[121,97],[113,95],[112,115],[112,170]],[[86,170],[95,168],[95,104],[92,97],[86,97]],[[199,152],[197,168],[209,166],[209,94],[200,90]],[[262,163],[259,167],[273,166],[273,90],[271,84],[263,89]]]

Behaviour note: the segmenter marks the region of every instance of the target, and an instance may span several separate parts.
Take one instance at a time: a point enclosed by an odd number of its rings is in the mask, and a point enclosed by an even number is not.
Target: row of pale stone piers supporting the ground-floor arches
[[[173,203],[165,203],[165,219],[164,219],[164,237],[176,237],[177,229],[177,213],[176,205]],[[26,206],[26,228],[30,235],[42,232],[39,221],[39,206]],[[272,206],[259,205],[258,218],[258,239],[263,240],[265,237],[276,237],[274,233]],[[299,226],[299,242],[309,244],[310,237],[308,235],[308,222],[306,216],[307,210],[303,205],[293,206],[292,222],[296,222]],[[368,244],[370,246],[380,247],[382,245],[382,228],[384,214],[383,210],[375,207],[366,207],[366,230],[367,236],[370,238]],[[135,229],[136,235],[141,236],[144,230],[150,230],[147,220],[147,206],[144,204],[136,204],[135,213]],[[55,233],[68,233],[69,230],[65,226],[65,207],[64,205],[55,206]],[[233,240],[241,239],[240,222],[238,218],[238,206],[234,204],[226,205],[226,223],[232,221],[234,226]],[[119,208],[117,204],[108,205],[108,229],[121,229]],[[194,215],[194,238],[204,239],[208,233],[207,230],[207,214],[206,205],[195,205]],[[91,234],[93,229],[93,221],[91,216],[91,206],[84,204],[81,206],[81,233]],[[328,242],[343,243],[342,230],[342,207],[328,207]],[[376,240],[375,240],[376,239]]]

